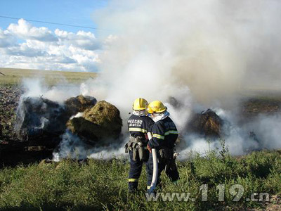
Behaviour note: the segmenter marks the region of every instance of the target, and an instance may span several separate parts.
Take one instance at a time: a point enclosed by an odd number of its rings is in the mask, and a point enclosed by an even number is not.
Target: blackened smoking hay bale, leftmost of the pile
[[[23,98],[18,107],[15,131],[21,139],[51,139],[65,131],[70,118],[64,106],[46,98]]]

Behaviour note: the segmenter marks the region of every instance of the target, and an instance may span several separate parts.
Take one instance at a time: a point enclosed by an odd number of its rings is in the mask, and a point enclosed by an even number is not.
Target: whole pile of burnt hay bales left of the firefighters
[[[96,106],[95,106],[96,105]],[[83,113],[81,117],[73,117]],[[29,146],[57,146],[66,129],[90,143],[118,139],[122,129],[119,110],[90,96],[77,96],[59,104],[42,97],[23,98],[15,131]]]

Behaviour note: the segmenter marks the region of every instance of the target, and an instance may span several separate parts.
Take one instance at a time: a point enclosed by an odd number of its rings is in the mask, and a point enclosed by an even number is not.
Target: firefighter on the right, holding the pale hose
[[[165,170],[167,176],[171,181],[176,182],[179,179],[178,170],[175,162],[174,146],[176,139],[178,139],[178,130],[176,124],[169,117],[169,112],[160,101],[153,101],[148,105],[148,113],[155,122],[151,132],[152,139],[148,141],[148,150],[151,152],[152,148],[157,150],[158,158],[158,181],[159,176]],[[148,160],[148,189],[152,181],[153,162],[152,153],[150,153]]]

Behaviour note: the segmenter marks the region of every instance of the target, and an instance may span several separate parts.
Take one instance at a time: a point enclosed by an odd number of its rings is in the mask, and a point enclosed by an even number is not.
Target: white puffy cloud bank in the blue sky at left
[[[52,32],[20,19],[0,29],[0,64],[4,68],[96,71],[105,42],[91,32]]]

